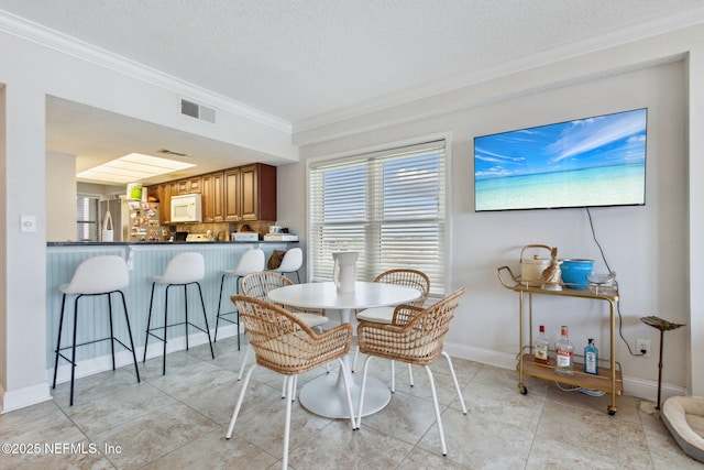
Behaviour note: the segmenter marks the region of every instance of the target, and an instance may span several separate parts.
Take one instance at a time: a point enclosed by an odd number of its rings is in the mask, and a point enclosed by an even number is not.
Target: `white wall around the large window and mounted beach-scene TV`
[[[691,315],[696,315],[690,307],[688,237],[690,218],[701,215],[689,211],[688,183],[693,168],[688,88],[701,88],[702,80],[691,75],[689,57],[693,51],[702,53],[703,34],[701,28],[667,34],[468,86],[449,97],[359,117],[345,122],[346,127],[301,132],[297,138],[302,144],[301,163],[279,167],[279,214],[290,219],[285,225],[305,233],[305,166],[309,159],[451,133],[450,274],[452,287],[466,286],[468,294],[453,320],[447,348],[460,357],[513,368],[518,298],[499,285],[496,267],[508,264],[518,272],[520,248],[529,243],[556,245],[564,258],[591,258],[597,260],[597,270],[605,267],[583,209],[475,214],[472,138],[647,107],[647,205],[595,208],[592,216],[607,261],[618,274],[623,334],[632,349],[638,338],[651,340],[653,348],[651,358],[635,358],[617,337],[616,356],[626,390],[654,398],[659,331],[639,318],[657,315],[691,324]],[[546,324],[552,340],[559,326],[566,324],[578,349],[586,338],[595,337],[602,358],[609,356],[604,305],[549,297],[535,298],[534,307],[536,321]],[[689,345],[702,337],[702,327],[691,330],[689,326],[666,335],[663,396],[688,390],[704,393],[701,384],[696,385],[697,368],[689,367],[690,354],[694,358]]]

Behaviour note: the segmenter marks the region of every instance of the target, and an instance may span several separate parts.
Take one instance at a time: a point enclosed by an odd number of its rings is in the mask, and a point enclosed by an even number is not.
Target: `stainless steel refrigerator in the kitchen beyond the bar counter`
[[[113,241],[163,240],[158,203],[127,200],[124,197],[101,200],[100,229],[103,228],[108,210],[113,223]],[[98,233],[101,233],[101,230],[98,230]]]

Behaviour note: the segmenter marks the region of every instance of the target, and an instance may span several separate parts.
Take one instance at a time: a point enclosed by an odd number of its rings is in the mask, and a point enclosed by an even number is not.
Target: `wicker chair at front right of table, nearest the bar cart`
[[[413,305],[399,305],[394,309],[391,325],[370,321],[360,323],[356,328],[358,343],[360,351],[369,354],[369,357],[364,361],[364,371],[362,373],[362,390],[360,392],[359,407],[360,417],[356,423],[358,429],[362,426],[364,387],[366,386],[366,372],[370,359],[378,357],[422,365],[426,368],[428,379],[430,380],[436,419],[440,431],[440,441],[442,442],[442,455],[448,455],[442,422],[440,419],[440,407],[438,406],[438,394],[436,393],[436,384],[432,372],[430,371],[430,364],[432,364],[440,354],[444,356],[448,360],[454,387],[462,404],[462,412],[466,415],[466,406],[464,405],[458,378],[454,374],[452,360],[450,356],[442,350],[444,336],[450,328],[450,321],[458,307],[460,297],[464,292],[465,288],[462,287],[426,309]]]

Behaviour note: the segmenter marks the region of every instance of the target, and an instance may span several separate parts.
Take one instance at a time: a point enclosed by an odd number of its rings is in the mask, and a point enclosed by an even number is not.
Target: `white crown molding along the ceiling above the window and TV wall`
[[[569,58],[586,55],[590,53],[603,51],[619,44],[627,44],[640,40],[646,40],[656,35],[681,30],[688,26],[704,23],[704,6],[680,10],[654,19],[634,23],[629,26],[618,28],[597,35],[562,44],[557,47],[540,51],[535,54],[528,54],[513,61],[485,67],[480,70],[473,70],[468,74],[451,77],[447,80],[436,81],[426,86],[416,87],[404,90],[395,95],[375,98],[365,102],[361,102],[350,108],[341,109],[334,112],[317,116],[296,122],[294,125],[294,134],[305,133],[321,129],[342,121],[360,118],[365,114],[372,114],[389,108],[407,105],[426,98],[441,96],[462,88],[468,88],[481,83],[494,80],[501,77],[518,74],[538,68],[541,66],[554,64]],[[447,112],[455,110],[448,108]],[[443,113],[442,110],[433,110],[433,114]],[[407,121],[410,117],[405,117]],[[387,122],[387,125],[394,125],[397,122]],[[323,132],[324,133],[324,132]]]

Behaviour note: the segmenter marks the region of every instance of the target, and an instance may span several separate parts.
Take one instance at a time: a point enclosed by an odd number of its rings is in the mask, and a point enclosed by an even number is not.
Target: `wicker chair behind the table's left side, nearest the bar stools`
[[[283,274],[278,274],[272,271],[261,271],[256,273],[250,273],[242,277],[242,294],[258,298],[261,300],[270,302],[268,293],[278,287],[284,287],[287,285],[293,285],[294,282]],[[282,308],[290,311],[296,315],[300,320],[302,320],[308,327],[317,328],[319,332],[322,332],[322,325],[328,323],[328,317],[324,316],[324,310],[307,310],[299,311],[300,309],[296,307],[290,307],[288,305],[278,305]],[[238,380],[242,379],[242,374],[244,373],[244,365],[250,357],[250,348],[245,348],[244,358],[242,359],[242,365],[240,367],[240,373],[238,374]],[[285,394],[285,391],[282,391],[282,395]]]

